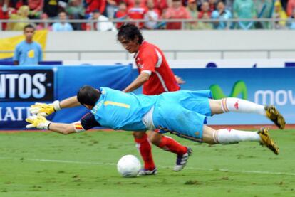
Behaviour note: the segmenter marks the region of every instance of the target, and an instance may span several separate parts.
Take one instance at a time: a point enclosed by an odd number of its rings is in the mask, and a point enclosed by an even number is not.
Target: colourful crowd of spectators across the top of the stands
[[[49,31],[116,31],[123,24],[120,20],[143,29],[295,29],[294,17],[295,0],[0,0],[0,20],[39,19],[36,29]],[[258,18],[276,21],[250,21]],[[48,19],[57,22],[46,23]],[[133,21],[138,19],[145,21]],[[165,19],[190,21],[158,21]],[[2,22],[0,30],[22,31],[28,23]]]

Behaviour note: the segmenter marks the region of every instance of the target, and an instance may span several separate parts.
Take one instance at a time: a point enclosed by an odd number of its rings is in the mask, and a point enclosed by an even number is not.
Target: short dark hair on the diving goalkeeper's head
[[[78,102],[81,105],[94,106],[100,97],[100,92],[90,85],[84,85],[77,93]]]

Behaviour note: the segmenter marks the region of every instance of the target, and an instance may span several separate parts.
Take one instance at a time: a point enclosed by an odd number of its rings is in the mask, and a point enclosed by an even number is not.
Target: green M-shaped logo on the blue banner
[[[211,85],[209,89],[212,91],[214,99],[222,99],[224,97],[238,97],[238,95],[242,95],[242,99],[247,100],[248,97],[246,84],[242,80],[238,80],[234,83],[234,86],[232,87],[232,92],[228,96],[224,95],[222,88],[219,87],[219,85],[217,84]]]

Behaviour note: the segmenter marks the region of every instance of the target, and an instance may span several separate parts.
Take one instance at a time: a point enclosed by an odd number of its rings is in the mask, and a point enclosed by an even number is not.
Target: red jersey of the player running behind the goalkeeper
[[[149,80],[143,84],[143,94],[160,95],[162,92],[180,90],[174,73],[160,48],[143,41],[134,58],[139,73],[151,73]]]

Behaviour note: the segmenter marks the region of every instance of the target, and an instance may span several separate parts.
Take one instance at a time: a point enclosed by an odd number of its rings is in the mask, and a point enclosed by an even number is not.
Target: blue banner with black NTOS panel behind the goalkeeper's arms
[[[0,66],[0,129],[25,129],[29,106],[76,95],[83,85],[122,90],[132,80],[131,66]],[[75,107],[48,117],[75,122],[88,110]]]

